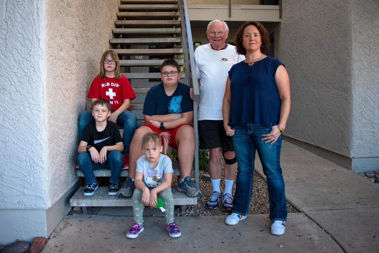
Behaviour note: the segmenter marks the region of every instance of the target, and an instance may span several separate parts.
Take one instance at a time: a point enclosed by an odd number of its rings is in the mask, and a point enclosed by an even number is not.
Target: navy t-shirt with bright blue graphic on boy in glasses
[[[185,113],[193,111],[193,101],[189,97],[189,86],[178,83],[171,96],[167,96],[163,83],[150,88],[146,94],[143,114],[148,116]]]

